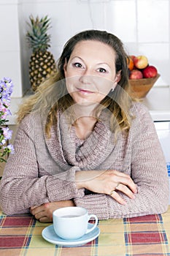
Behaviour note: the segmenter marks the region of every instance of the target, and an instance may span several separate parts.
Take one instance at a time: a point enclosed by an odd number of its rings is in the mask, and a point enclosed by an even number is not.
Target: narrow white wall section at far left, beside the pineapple
[[[17,1],[0,0],[0,17],[0,79],[12,78],[17,85],[12,96],[22,97]]]

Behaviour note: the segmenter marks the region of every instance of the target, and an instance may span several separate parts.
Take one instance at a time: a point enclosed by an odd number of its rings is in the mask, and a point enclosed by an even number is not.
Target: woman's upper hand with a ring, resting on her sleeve
[[[110,195],[118,203],[125,204],[125,200],[117,191],[123,192],[130,198],[134,198],[137,192],[136,184],[128,174],[117,170],[88,170],[76,173],[77,189],[88,189],[90,191]],[[111,194],[112,192],[112,194]]]

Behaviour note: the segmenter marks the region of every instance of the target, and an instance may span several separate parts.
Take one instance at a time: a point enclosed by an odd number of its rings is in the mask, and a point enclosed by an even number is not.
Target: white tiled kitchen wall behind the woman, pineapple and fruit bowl
[[[0,78],[15,83],[12,97],[29,89],[26,43],[29,15],[49,15],[50,51],[57,60],[69,37],[101,29],[122,39],[129,54],[145,55],[158,68],[155,86],[170,85],[170,0],[0,0]]]

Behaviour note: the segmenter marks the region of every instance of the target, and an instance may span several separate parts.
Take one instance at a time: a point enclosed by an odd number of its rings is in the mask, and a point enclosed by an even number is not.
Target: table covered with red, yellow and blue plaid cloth
[[[77,247],[50,244],[30,214],[6,216],[0,211],[1,256],[131,256],[170,255],[170,206],[165,214],[100,220],[100,235]]]

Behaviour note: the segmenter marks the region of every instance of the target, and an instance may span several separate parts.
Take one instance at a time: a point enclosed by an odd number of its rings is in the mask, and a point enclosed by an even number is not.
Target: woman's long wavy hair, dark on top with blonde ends
[[[128,95],[128,56],[120,39],[113,34],[107,33],[107,31],[99,30],[82,31],[66,42],[63,53],[60,59],[58,59],[58,72],[55,72],[55,74],[45,80],[45,82],[37,87],[35,94],[28,97],[26,102],[23,102],[23,105],[18,110],[18,123],[29,113],[38,111],[42,116],[47,116],[45,132],[47,137],[50,138],[51,127],[58,121],[58,115],[56,113],[58,111],[63,112],[74,105],[74,101],[66,89],[63,65],[65,61],[69,61],[77,42],[84,40],[104,42],[115,50],[116,73],[121,72],[121,78],[115,90],[110,91],[100,102],[100,108],[97,111],[99,113],[101,112],[101,108],[107,108],[112,113],[110,116],[112,132],[116,133],[118,130],[121,130],[128,133],[131,127],[132,116],[130,114],[130,108],[133,101]]]

